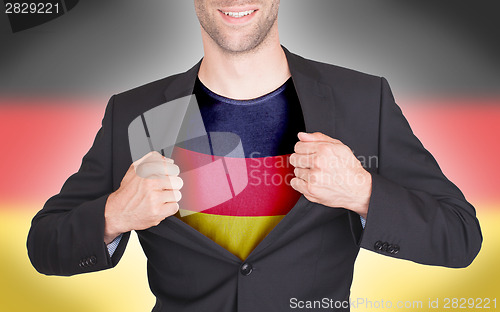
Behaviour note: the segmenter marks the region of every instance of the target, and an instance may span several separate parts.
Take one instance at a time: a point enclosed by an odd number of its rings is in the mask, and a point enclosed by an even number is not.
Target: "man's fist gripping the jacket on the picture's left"
[[[104,242],[131,230],[158,225],[179,210],[183,185],[172,159],[151,152],[130,165],[120,188],[109,195],[105,207]]]

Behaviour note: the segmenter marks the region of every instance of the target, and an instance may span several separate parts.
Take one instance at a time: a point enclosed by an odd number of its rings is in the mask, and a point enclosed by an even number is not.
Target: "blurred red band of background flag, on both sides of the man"
[[[91,146],[106,102],[0,99],[2,202],[42,202],[57,193]],[[469,200],[500,198],[500,98],[399,103],[415,134]]]

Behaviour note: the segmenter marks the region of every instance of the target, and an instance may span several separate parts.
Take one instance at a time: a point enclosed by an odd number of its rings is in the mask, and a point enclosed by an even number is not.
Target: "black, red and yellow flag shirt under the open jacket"
[[[176,217],[244,260],[301,195],[289,163],[305,130],[299,100],[291,78],[251,100],[215,94],[199,79],[194,94],[208,140],[174,148],[181,173],[192,172]]]

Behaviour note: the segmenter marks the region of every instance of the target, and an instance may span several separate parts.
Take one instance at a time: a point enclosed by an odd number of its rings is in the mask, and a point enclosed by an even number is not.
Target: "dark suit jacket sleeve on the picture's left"
[[[28,256],[47,275],[74,275],[111,268],[123,255],[130,233],[111,258],[104,243],[104,207],[113,192],[113,100],[106,107],[94,143],[77,173],[33,218]]]

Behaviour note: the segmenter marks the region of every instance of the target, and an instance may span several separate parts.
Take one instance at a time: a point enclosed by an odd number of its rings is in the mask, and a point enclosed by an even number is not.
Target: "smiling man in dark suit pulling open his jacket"
[[[348,311],[360,247],[430,265],[473,261],[475,210],[413,135],[384,78],[282,47],[279,0],[194,4],[203,59],[110,99],[81,168],[33,219],[27,245],[39,272],[112,268],[135,230],[153,311],[288,311],[292,298]],[[237,135],[248,169],[236,177],[248,181],[241,192],[233,184],[231,199],[203,211],[183,201],[210,200],[206,189],[223,180],[182,179],[193,155],[203,157],[199,146],[134,159],[129,138],[134,120],[190,95],[211,142]],[[231,158],[210,153],[233,178]],[[264,183],[269,176],[281,183]]]

